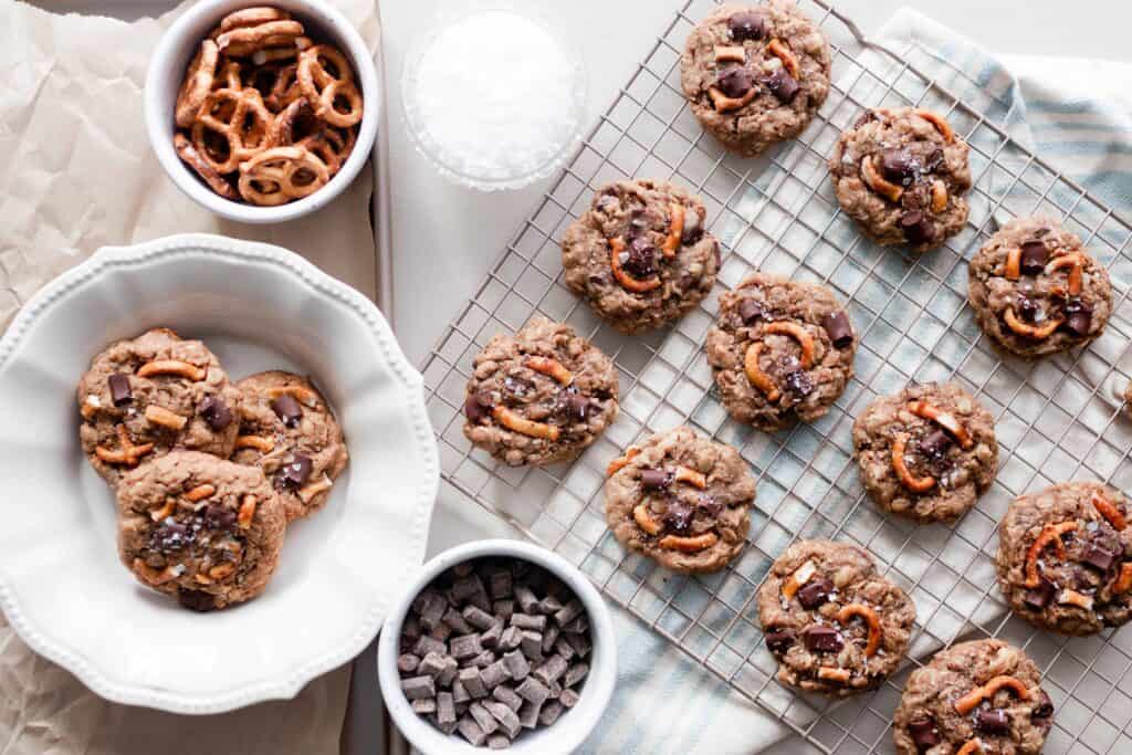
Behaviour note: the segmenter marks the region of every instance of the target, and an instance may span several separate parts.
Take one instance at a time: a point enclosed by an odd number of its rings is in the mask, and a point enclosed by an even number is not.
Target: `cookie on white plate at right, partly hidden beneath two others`
[[[350,461],[326,400],[306,378],[278,370],[243,378],[235,387],[243,402],[232,461],[264,470],[289,522],[321,508]]]

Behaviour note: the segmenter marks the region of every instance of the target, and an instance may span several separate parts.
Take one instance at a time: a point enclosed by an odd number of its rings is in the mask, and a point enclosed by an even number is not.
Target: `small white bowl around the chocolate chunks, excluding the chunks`
[[[552,726],[533,731],[524,729],[507,750],[514,755],[572,753],[593,731],[614,694],[614,685],[617,681],[614,623],[606,602],[577,568],[544,548],[518,540],[480,540],[444,551],[424,565],[417,580],[393,603],[377,646],[377,676],[385,705],[405,738],[426,755],[471,755],[486,752],[484,747],[473,747],[456,732],[444,733],[434,728],[427,719],[414,713],[401,690],[401,676],[397,674],[401,625],[413,599],[445,570],[457,564],[484,557],[517,558],[537,564],[566,583],[585,606],[593,652],[586,659],[590,674],[582,687],[577,705],[564,711],[561,718]]]

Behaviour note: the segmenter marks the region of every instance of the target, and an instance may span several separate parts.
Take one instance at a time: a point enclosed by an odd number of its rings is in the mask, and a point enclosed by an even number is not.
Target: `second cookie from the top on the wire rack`
[[[969,152],[932,111],[869,110],[838,139],[830,177],[842,209],[865,235],[923,252],[967,223]]]

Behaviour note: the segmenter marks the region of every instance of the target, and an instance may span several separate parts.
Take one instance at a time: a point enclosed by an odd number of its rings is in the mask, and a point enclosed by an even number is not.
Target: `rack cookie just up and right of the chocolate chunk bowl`
[[[743,551],[755,479],[730,446],[678,427],[629,446],[606,480],[606,523],[674,572],[718,572]]]

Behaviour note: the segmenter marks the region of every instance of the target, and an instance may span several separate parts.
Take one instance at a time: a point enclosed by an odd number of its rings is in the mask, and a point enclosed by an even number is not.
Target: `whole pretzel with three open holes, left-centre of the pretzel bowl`
[[[216,89],[205,98],[192,123],[192,146],[217,173],[231,173],[267,147],[271,123],[272,114],[256,89]],[[214,153],[208,135],[220,137],[228,153]]]

